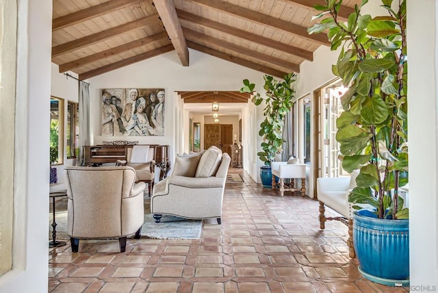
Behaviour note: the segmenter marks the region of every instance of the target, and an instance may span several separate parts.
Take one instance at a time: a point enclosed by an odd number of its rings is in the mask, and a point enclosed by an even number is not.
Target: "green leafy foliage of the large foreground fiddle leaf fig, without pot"
[[[408,218],[398,196],[408,183],[406,0],[381,0],[387,13],[375,17],[361,14],[367,2],[346,22],[338,18],[342,0],[313,6],[320,13],[312,21],[324,19],[308,32],[328,31],[331,50],[339,50],[333,73],[349,87],[336,134],[342,167],[360,170],[349,201],[378,218]]]

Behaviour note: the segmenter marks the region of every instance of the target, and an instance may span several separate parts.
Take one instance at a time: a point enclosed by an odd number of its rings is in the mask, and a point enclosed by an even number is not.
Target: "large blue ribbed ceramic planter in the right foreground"
[[[409,220],[355,212],[353,240],[363,277],[384,285],[409,285]]]

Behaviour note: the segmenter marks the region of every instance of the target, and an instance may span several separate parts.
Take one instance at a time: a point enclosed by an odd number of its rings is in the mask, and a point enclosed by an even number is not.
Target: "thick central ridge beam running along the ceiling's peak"
[[[189,66],[189,50],[185,42],[183,29],[175,10],[175,3],[173,0],[154,0],[155,8],[159,16],[162,18],[164,27],[169,35],[170,41],[177,51],[179,60],[183,66]]]

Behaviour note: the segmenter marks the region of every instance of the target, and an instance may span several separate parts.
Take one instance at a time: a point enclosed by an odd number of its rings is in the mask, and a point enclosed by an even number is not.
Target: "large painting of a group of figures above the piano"
[[[164,136],[164,89],[104,88],[102,136]]]

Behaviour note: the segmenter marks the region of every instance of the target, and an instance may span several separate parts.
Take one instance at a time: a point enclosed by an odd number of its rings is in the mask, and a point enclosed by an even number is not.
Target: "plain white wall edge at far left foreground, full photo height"
[[[0,277],[0,292],[47,292],[52,6],[17,3],[13,269]]]

